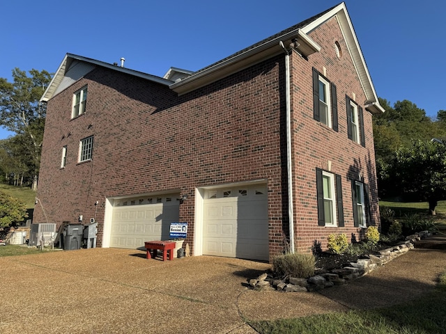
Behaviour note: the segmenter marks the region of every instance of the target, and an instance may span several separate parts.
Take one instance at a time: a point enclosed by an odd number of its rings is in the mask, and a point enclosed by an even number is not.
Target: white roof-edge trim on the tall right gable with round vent
[[[357,75],[360,78],[362,89],[364,90],[364,93],[366,95],[366,101],[364,103],[369,105],[377,104],[379,106],[379,100],[378,96],[376,95],[374,84],[371,81],[369,70],[367,69],[360,44],[357,41],[355,29],[353,29],[353,24],[351,23],[351,19],[348,15],[347,8],[344,2],[340,3],[339,6],[336,6],[335,8],[330,10],[330,12],[325,13],[325,15],[318,17],[318,19],[303,27],[302,31],[304,31],[305,33],[309,33],[310,31],[316,29],[317,26],[323,24],[323,22],[332,17],[337,18],[339,26],[341,27],[342,34],[344,35],[344,40],[346,40],[348,53],[353,59],[353,64],[355,65]],[[381,109],[382,107],[379,106],[377,107],[376,111]]]

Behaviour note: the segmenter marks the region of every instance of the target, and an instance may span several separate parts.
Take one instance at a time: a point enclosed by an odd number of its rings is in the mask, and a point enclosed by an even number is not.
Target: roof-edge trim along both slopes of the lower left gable
[[[121,66],[105,63],[103,61],[96,61],[95,59],[86,58],[83,56],[77,56],[75,54],[66,54],[66,56],[63,58],[61,65],[59,66],[59,69],[57,70],[52,81],[50,82],[48,88],[45,90],[45,93],[43,93],[43,96],[40,98],[40,101],[47,102],[49,99],[51,99],[53,97],[54,91],[56,91],[57,86],[59,86],[59,84],[61,83],[61,81],[63,79],[63,76],[65,75],[68,62],[72,61],[73,59],[75,59],[77,61],[84,61],[86,63],[91,63],[93,65],[98,65],[101,67],[106,67],[106,68],[109,68],[110,70],[115,70],[115,71],[122,72],[125,74],[130,74],[130,75],[133,75],[134,77],[140,77],[142,79],[153,81],[157,84],[162,84],[164,86],[169,86],[173,82],[173,81],[163,79],[160,77],[155,77],[154,75],[151,75],[151,74],[146,74],[143,72],[130,70],[126,67],[121,67]]]

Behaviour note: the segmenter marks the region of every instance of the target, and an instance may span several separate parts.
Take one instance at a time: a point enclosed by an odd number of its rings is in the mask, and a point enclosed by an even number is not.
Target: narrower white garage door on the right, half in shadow
[[[203,254],[269,260],[266,185],[206,190]]]

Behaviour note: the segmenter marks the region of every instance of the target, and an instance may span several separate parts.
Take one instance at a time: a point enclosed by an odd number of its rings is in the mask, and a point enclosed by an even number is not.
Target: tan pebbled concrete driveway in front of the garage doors
[[[373,307],[377,291],[382,301],[396,285],[399,299],[389,303],[416,298],[446,269],[445,251],[411,250],[323,296],[247,289],[247,278],[270,268],[266,263],[207,256],[162,262],[145,254],[93,248],[1,257],[0,333],[256,333],[245,319],[345,311],[364,299]],[[435,264],[415,281],[413,272],[429,259]]]

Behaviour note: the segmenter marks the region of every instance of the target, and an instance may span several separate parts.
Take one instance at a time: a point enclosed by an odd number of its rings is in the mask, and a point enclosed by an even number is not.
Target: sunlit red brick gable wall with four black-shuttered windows
[[[326,248],[330,233],[345,233],[349,240],[353,235],[357,240],[364,237],[364,229],[353,226],[351,180],[358,180],[358,173],[369,184],[372,221],[379,223],[372,116],[364,108],[366,97],[346,41],[335,18],[309,36],[321,45],[321,51],[309,56],[308,61],[292,55],[293,190],[296,249],[300,252],[308,252],[315,242]],[[341,45],[341,58],[334,51],[336,41]],[[339,132],[313,119],[312,67],[321,73],[325,67],[326,77],[337,86]],[[355,102],[364,109],[365,148],[348,139],[346,95],[352,99],[355,95]],[[344,228],[320,227],[317,223],[316,167],[327,170],[329,160],[332,173],[342,177]]]

